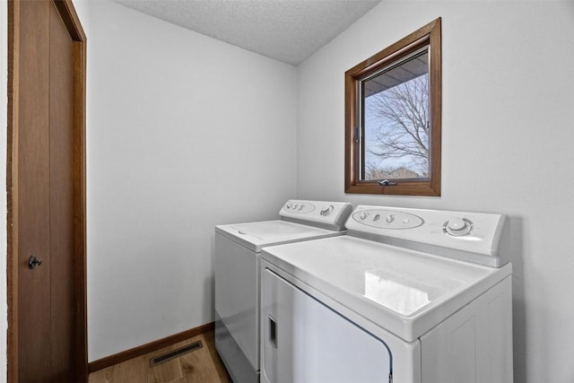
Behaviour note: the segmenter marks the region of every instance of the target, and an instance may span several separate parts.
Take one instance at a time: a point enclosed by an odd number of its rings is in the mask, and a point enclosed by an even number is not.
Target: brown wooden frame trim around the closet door
[[[86,288],[86,45],[72,0],[52,0],[74,40],[74,381],[88,379]],[[7,300],[8,381],[18,381],[18,135],[20,1],[8,1]],[[25,361],[23,361],[25,362]]]

